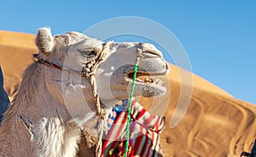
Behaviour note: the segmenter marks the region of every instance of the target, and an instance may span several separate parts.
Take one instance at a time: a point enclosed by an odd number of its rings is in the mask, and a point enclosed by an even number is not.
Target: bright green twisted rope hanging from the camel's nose
[[[127,154],[129,151],[130,124],[131,124],[131,102],[132,102],[133,92],[134,92],[134,88],[135,88],[135,79],[137,77],[137,66],[138,66],[138,63],[136,63],[134,66],[134,74],[133,74],[132,84],[131,84],[131,93],[130,93],[129,105],[127,108],[128,118],[127,118],[127,123],[126,123],[125,157],[127,157]]]

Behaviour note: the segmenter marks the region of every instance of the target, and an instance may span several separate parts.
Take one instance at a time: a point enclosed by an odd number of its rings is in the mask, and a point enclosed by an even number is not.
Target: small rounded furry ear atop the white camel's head
[[[38,29],[36,44],[38,49],[45,54],[48,54],[54,49],[55,42],[54,37],[51,35],[50,28]]]

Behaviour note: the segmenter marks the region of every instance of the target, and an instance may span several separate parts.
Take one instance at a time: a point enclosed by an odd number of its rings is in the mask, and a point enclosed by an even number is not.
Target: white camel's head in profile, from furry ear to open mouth
[[[36,44],[39,58],[72,70],[78,76],[81,71],[88,76],[95,75],[96,91],[102,102],[114,102],[129,97],[137,57],[139,64],[134,96],[151,97],[166,93],[162,81],[155,77],[166,75],[169,67],[153,44],[105,43],[79,32],[52,36],[49,28],[38,30]],[[139,54],[138,49],[142,50]],[[98,66],[93,69],[97,63]],[[83,81],[86,82],[86,79]],[[84,84],[83,81],[81,84]]]

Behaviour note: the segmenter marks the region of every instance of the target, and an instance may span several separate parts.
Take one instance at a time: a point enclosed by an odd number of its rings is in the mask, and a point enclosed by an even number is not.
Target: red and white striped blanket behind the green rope
[[[124,156],[125,124],[128,101],[113,108],[113,115],[108,119],[108,136],[102,146],[102,156]],[[165,127],[165,118],[151,115],[138,102],[132,101],[129,152],[127,156],[162,156],[160,149],[160,131]]]

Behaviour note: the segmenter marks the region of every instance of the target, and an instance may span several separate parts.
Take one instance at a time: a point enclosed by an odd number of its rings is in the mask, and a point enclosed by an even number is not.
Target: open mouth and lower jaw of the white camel
[[[126,73],[125,80],[129,83],[133,81],[134,72]],[[162,96],[166,93],[166,87],[163,86],[164,81],[159,76],[166,75],[164,73],[145,73],[137,72],[137,77],[135,78],[136,90],[140,90],[142,96],[152,97],[152,96]]]

